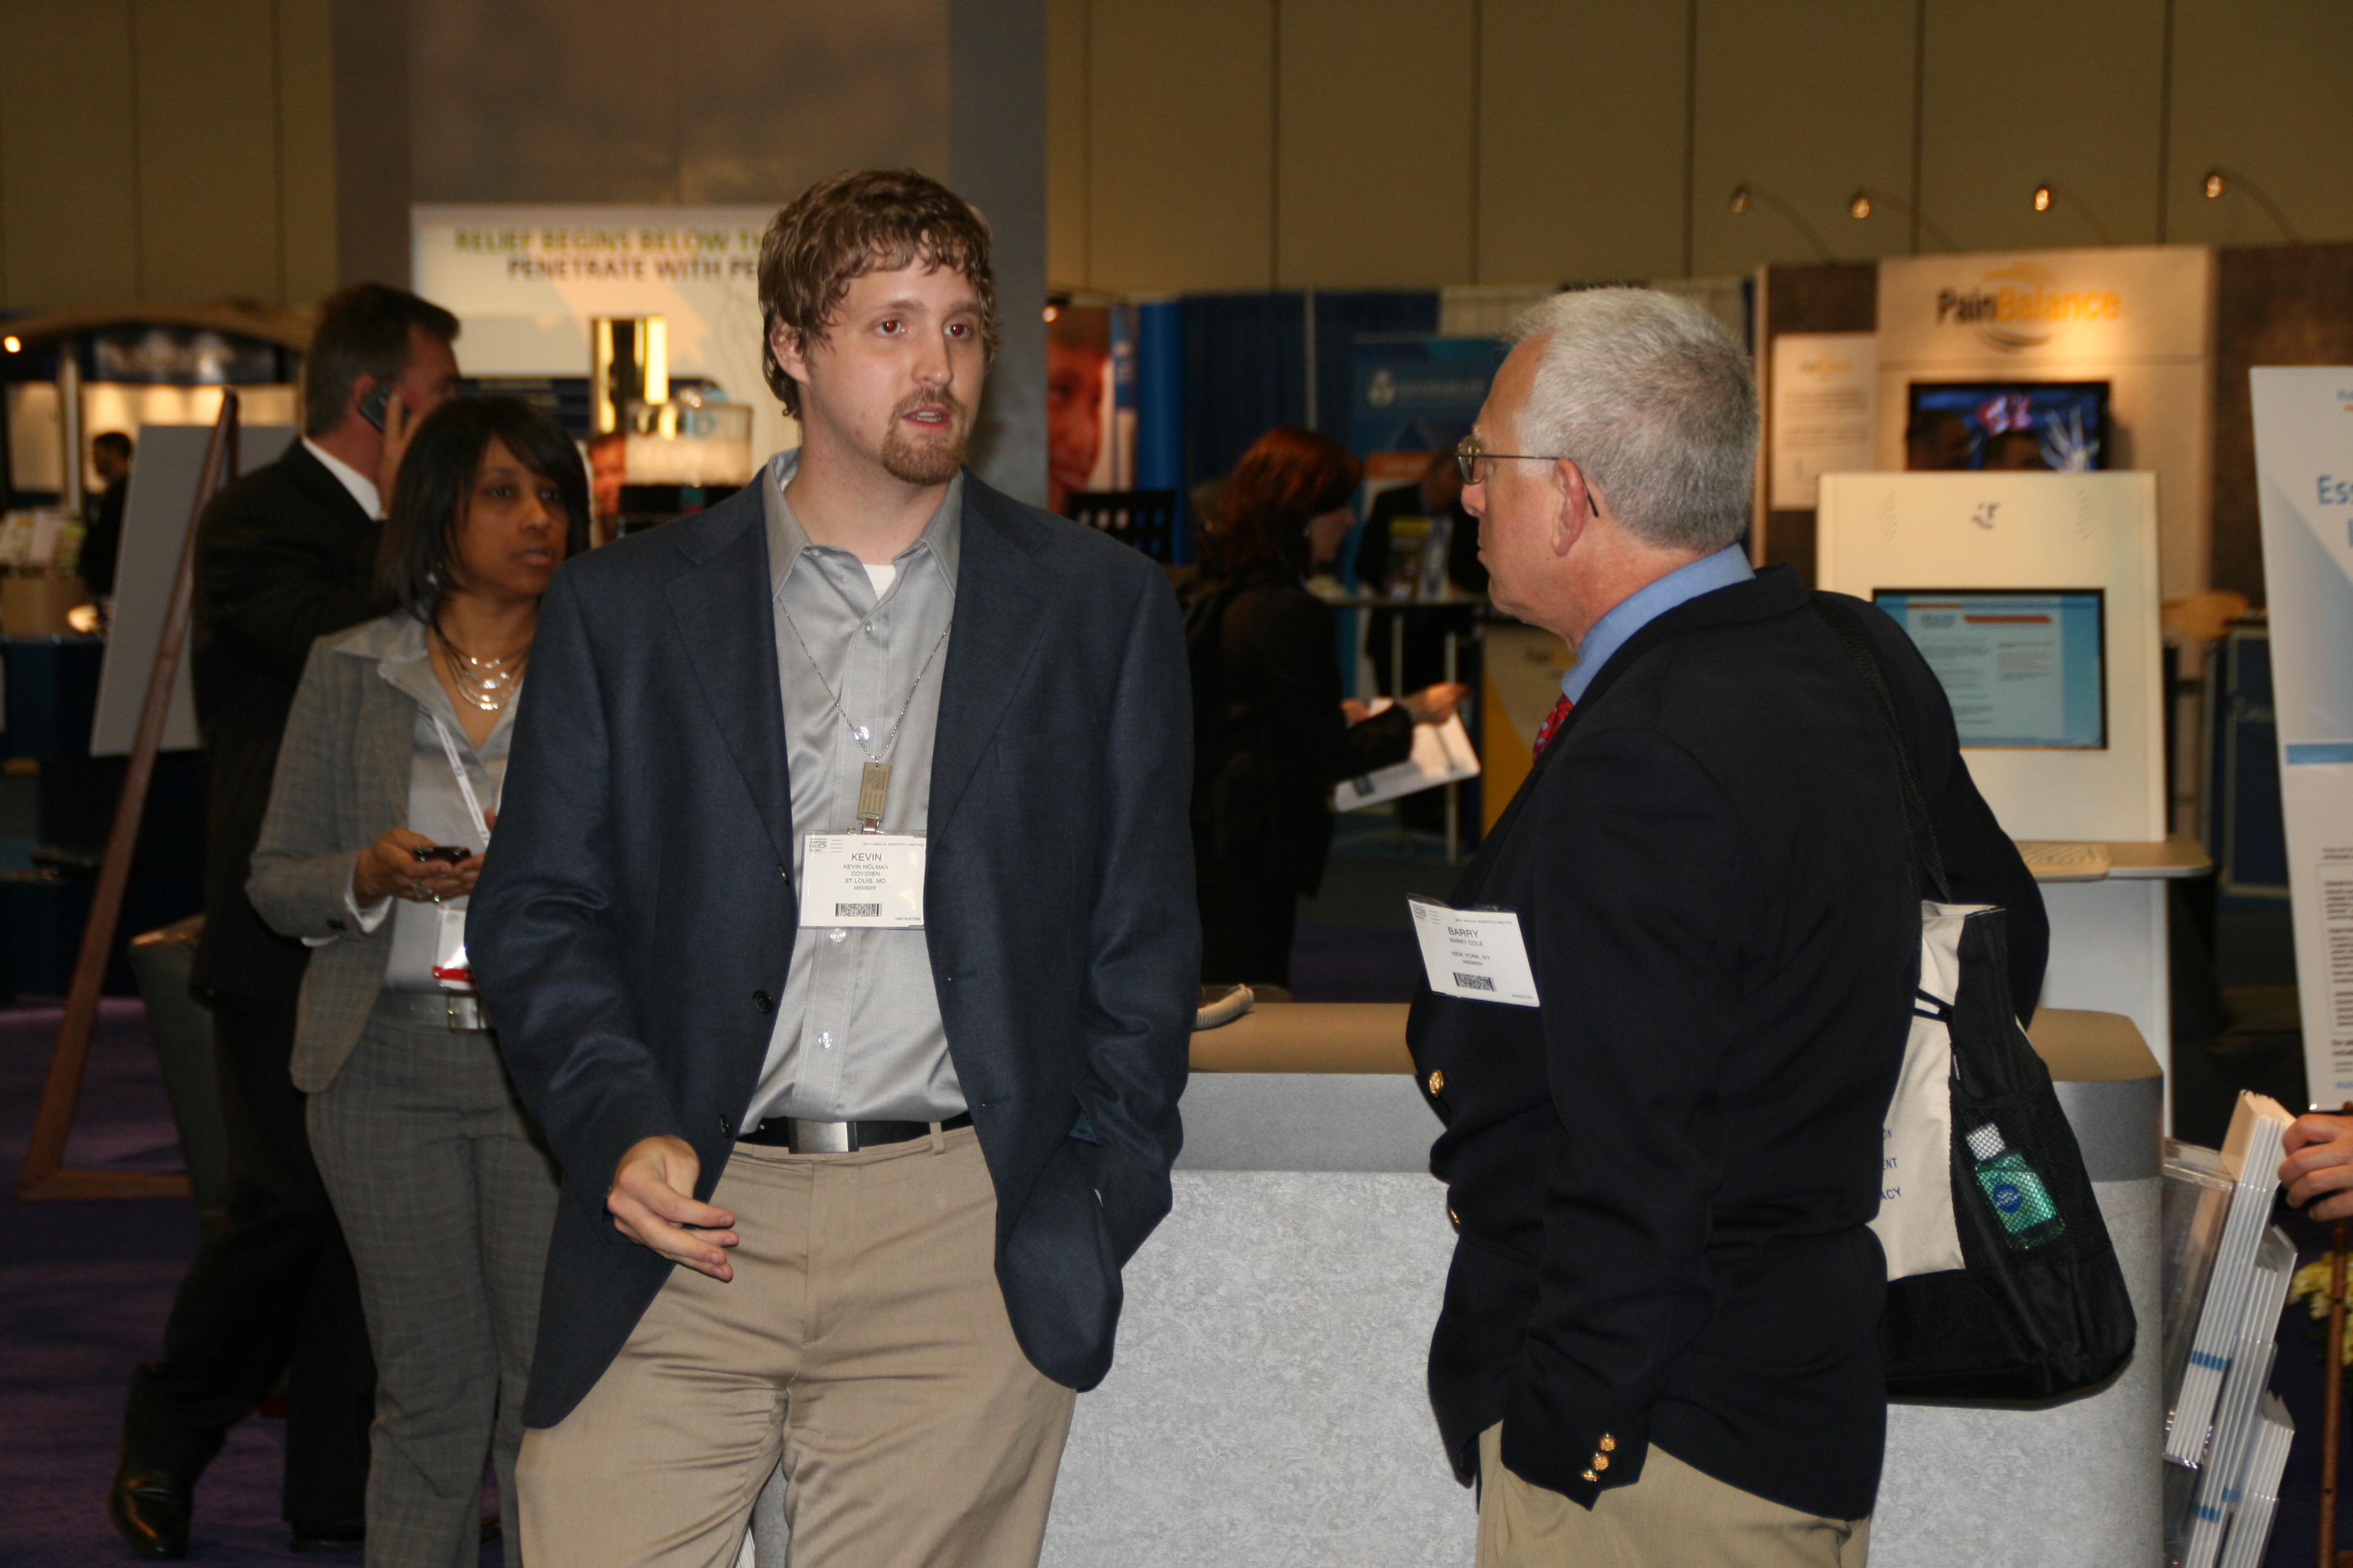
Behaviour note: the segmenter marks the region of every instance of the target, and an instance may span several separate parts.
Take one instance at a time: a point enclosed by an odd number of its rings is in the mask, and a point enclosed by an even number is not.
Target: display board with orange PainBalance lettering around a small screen
[[[2162,592],[2207,585],[2212,249],[1889,256],[1878,327],[1878,468],[1904,468],[1913,381],[2106,381],[2106,465],[2158,475]]]

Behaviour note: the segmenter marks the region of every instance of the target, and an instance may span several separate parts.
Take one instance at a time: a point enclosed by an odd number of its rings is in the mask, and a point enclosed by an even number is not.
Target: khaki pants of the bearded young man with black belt
[[[734,1281],[678,1267],[588,1399],[527,1432],[527,1561],[729,1568],[776,1460],[793,1568],[1033,1568],[1071,1389],[1014,1342],[972,1128],[736,1145]]]

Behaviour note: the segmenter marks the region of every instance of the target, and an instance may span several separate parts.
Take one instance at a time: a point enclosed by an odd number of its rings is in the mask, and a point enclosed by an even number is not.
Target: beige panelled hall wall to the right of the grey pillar
[[[1908,254],[1913,207],[1967,252],[2280,242],[2202,197],[2214,165],[2353,237],[2346,0],[1049,0],[1047,28],[1064,287],[1817,261],[1729,212],[1744,181],[1838,259]]]

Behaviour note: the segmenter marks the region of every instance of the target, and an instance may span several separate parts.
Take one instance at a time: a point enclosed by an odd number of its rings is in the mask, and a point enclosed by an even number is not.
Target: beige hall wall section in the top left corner
[[[0,0],[0,306],[334,287],[332,0]]]

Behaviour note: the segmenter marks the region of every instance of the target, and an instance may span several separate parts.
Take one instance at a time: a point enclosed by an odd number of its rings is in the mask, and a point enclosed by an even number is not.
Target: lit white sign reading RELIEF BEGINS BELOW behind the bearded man
[[[800,444],[760,374],[760,235],[774,207],[409,209],[409,287],[464,322],[468,376],[586,376],[593,317],[659,315],[671,374],[753,409],[753,458]]]

